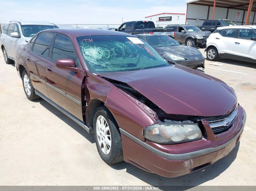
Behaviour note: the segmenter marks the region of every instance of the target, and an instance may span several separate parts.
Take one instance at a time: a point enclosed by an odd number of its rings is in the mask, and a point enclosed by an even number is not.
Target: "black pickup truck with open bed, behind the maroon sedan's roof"
[[[153,21],[130,21],[121,24],[116,31],[125,32],[128,34],[153,34],[153,33],[165,33],[168,36],[174,37],[173,29],[159,29],[155,28]]]

